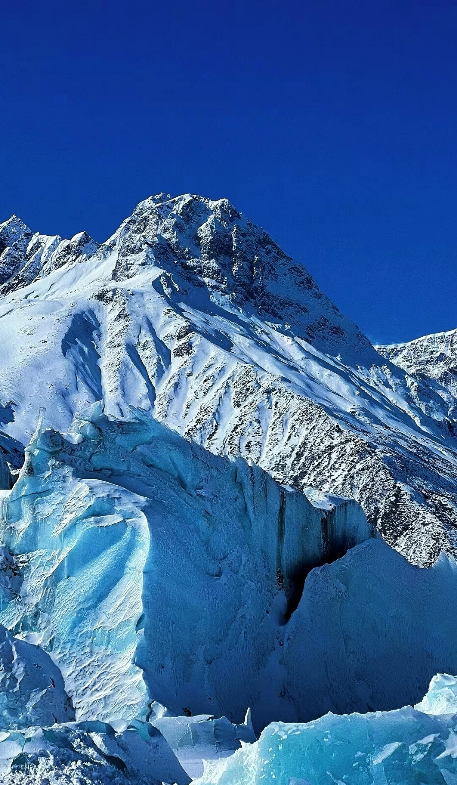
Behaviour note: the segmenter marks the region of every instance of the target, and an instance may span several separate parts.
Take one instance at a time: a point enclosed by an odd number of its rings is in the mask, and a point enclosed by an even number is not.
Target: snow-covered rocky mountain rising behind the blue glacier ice
[[[106,414],[151,411],[282,483],[354,496],[413,562],[457,553],[452,385],[377,352],[226,199],[151,197],[101,246],[13,217],[0,250],[13,472],[40,407],[64,432],[102,400]]]

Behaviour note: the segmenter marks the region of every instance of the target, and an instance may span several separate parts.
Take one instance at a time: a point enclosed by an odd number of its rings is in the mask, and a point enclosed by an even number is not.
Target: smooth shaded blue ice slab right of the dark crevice
[[[456,593],[455,560],[421,569],[382,540],[313,570],[284,642],[297,716],[397,709],[457,673]]]

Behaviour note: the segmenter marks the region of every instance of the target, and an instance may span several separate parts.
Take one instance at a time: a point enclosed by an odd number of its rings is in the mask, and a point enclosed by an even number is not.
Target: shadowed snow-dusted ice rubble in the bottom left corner
[[[42,648],[13,637],[0,625],[2,785],[159,785],[163,781],[188,785],[190,778],[160,732],[160,721],[152,725],[118,720],[108,725],[74,719],[57,665]],[[224,724],[222,719],[217,723],[225,728],[228,738],[227,728],[232,730],[232,737],[236,736],[237,728],[229,721]],[[247,725],[240,726],[240,735],[244,731],[246,737],[249,730]],[[251,732],[250,740],[252,736]],[[211,751],[210,739],[207,741]],[[229,748],[227,744],[225,747]],[[234,749],[236,745],[232,745]],[[198,762],[201,768],[201,761]]]

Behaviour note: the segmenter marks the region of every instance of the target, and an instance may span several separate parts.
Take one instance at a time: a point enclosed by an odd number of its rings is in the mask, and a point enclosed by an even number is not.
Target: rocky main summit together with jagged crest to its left
[[[87,232],[70,240],[32,235],[17,217],[0,225],[0,243],[0,294],[75,261],[115,254],[115,281],[152,265],[174,279],[175,291],[193,287],[201,293],[203,287],[210,298],[222,296],[230,307],[291,331],[324,353],[363,356],[365,365],[378,359],[368,339],[320,291],[302,263],[287,256],[226,198],[165,192],[149,196],[101,246],[101,256]]]

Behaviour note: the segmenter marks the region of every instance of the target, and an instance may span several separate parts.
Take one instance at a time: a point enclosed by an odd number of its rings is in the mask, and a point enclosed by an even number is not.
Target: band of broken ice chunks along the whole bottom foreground
[[[455,785],[455,685],[438,674],[414,708],[274,722],[258,741],[248,717],[174,717],[157,703],[152,723],[0,732],[0,776],[4,785],[188,785],[196,776],[198,785]]]

